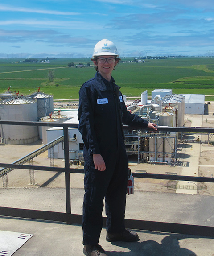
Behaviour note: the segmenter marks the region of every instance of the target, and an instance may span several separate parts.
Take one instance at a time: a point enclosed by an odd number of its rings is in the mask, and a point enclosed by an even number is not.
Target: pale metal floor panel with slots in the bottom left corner
[[[11,256],[33,235],[0,230],[0,256]]]

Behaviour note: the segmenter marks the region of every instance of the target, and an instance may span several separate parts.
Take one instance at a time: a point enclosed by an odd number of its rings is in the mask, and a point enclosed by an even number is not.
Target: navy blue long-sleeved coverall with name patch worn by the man
[[[125,231],[128,156],[122,122],[147,127],[148,121],[132,115],[125,106],[115,80],[99,72],[79,91],[79,131],[84,141],[83,244],[96,245],[103,227],[103,199],[106,202],[107,232]],[[95,169],[93,154],[101,154],[106,170]]]

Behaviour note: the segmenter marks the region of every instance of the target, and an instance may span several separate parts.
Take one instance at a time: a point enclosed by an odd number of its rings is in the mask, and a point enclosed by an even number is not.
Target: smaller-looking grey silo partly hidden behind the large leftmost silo
[[[48,116],[50,113],[53,113],[53,95],[40,92],[40,87],[37,92],[29,95],[28,98],[37,99],[38,118]]]

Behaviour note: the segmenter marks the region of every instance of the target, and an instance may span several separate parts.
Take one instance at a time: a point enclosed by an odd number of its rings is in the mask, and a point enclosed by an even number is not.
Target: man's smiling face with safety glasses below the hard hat
[[[93,61],[95,66],[98,67],[99,73],[105,78],[105,76],[111,75],[112,70],[117,65],[115,56],[99,56],[96,61]]]

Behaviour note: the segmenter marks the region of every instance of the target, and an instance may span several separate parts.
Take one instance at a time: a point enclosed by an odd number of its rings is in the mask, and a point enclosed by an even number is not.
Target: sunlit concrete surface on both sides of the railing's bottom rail
[[[83,189],[71,189],[72,213],[82,213],[83,194]],[[0,189],[0,195],[0,206],[5,207],[63,212],[66,208],[64,189]],[[212,200],[203,195],[136,191],[127,197],[126,218],[214,226]],[[83,256],[80,225],[0,217],[0,230],[33,234],[14,256]],[[214,256],[214,238],[137,232],[138,242],[109,243],[103,228],[99,244],[108,256]]]

